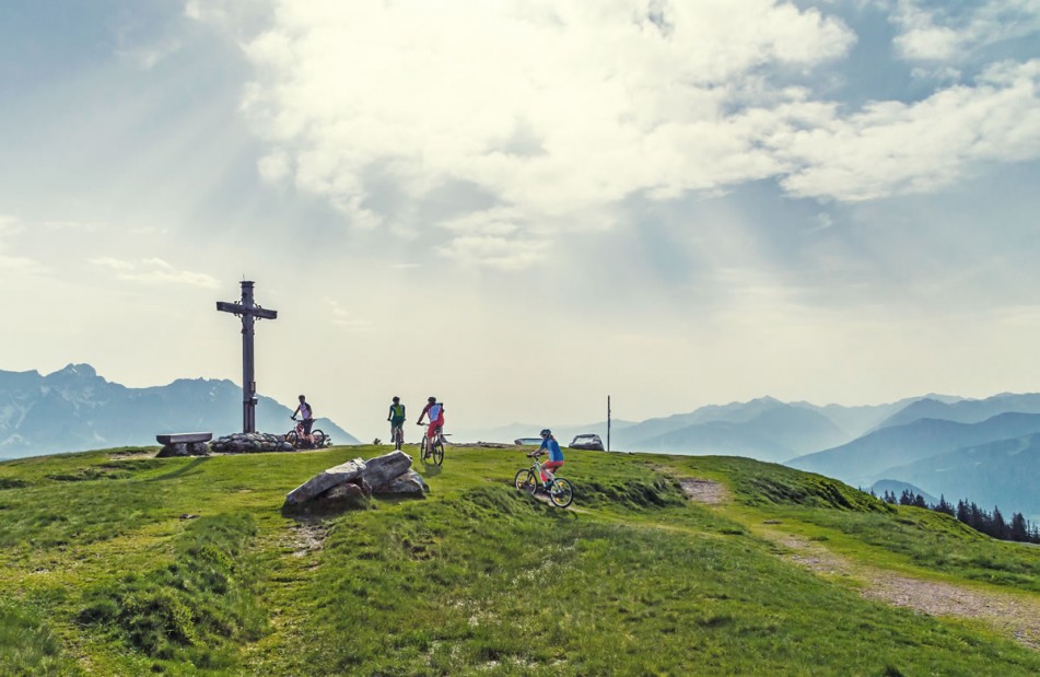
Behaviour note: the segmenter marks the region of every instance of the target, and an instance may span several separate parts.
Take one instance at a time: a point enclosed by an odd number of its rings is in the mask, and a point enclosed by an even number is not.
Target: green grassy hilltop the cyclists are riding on
[[[0,464],[0,675],[1040,674],[1040,549],[781,466],[572,451],[559,510],[449,447],[426,500],[281,514],[385,451]],[[1003,616],[884,596],[916,584]]]

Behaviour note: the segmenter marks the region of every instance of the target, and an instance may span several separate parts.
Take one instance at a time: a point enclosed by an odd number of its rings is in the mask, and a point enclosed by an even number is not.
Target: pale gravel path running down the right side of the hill
[[[710,480],[687,478],[682,490],[693,501],[720,504],[728,500],[725,487]],[[713,487],[714,485],[714,487]],[[1040,651],[1040,602],[1000,591],[914,579],[868,567],[834,555],[808,539],[762,526],[756,534],[782,546],[783,556],[827,577],[846,579],[861,586],[867,599],[907,607],[930,616],[981,620],[1020,644]]]

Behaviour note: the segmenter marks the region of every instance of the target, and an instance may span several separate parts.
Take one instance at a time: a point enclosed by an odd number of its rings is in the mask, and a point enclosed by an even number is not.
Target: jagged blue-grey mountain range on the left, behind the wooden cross
[[[257,430],[288,431],[292,411],[259,397]],[[336,444],[358,444],[329,419],[315,425]],[[46,376],[0,371],[0,458],[153,445],[155,435],[166,432],[205,431],[217,437],[241,430],[242,387],[231,381],[184,378],[128,388],[105,381],[89,364],[69,364]]]

